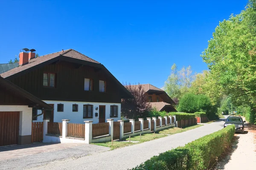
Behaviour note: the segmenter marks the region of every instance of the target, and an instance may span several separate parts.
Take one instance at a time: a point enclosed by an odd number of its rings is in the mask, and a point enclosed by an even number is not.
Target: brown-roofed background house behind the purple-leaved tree
[[[143,84],[142,88],[145,91],[145,95],[148,96],[148,102],[151,104],[152,108],[156,108],[157,111],[177,112],[173,107],[175,102],[165,91],[151,84]]]

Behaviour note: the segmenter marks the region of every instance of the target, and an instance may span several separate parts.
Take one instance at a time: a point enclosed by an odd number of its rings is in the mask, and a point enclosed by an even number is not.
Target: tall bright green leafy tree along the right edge
[[[250,0],[244,11],[232,15],[215,28],[203,54],[210,77],[235,105],[256,110],[256,2]]]

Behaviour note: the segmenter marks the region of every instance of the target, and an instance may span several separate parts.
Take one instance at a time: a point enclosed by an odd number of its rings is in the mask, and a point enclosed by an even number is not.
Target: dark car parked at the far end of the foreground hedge
[[[228,125],[235,125],[236,126],[236,132],[244,133],[244,122],[243,119],[239,116],[228,116],[224,127],[227,127]]]

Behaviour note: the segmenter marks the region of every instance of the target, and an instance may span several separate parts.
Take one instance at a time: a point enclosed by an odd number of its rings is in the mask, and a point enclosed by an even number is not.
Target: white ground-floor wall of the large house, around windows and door
[[[44,100],[47,104],[54,104],[54,122],[62,122],[62,119],[70,119],[70,123],[84,123],[85,120],[92,120],[94,123],[99,123],[99,109],[96,111],[96,108],[99,108],[99,105],[105,105],[106,108],[106,115],[105,115],[105,122],[107,119],[114,119],[114,121],[118,121],[121,119],[121,103],[99,103],[99,102],[69,102],[69,101],[51,101],[51,100]],[[58,112],[57,105],[58,104],[64,105],[64,111]],[[72,111],[72,105],[78,105],[78,112]],[[93,119],[83,119],[83,105],[93,105]],[[117,105],[118,106],[118,117],[111,118],[110,117],[110,106]],[[98,116],[95,116],[95,113],[98,113]],[[38,114],[41,114],[41,111],[38,110]],[[33,122],[43,122],[43,115],[38,116],[38,119]]]

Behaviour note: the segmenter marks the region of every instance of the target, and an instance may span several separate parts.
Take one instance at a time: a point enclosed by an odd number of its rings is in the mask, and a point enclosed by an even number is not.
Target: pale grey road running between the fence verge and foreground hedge
[[[193,130],[164,138],[156,139],[142,144],[111,150],[104,153],[84,156],[78,159],[65,159],[52,161],[44,166],[32,169],[69,169],[69,170],[126,170],[143,163],[154,155],[163,153],[172,148],[183,146],[207,134],[223,128],[224,122],[214,122]]]

